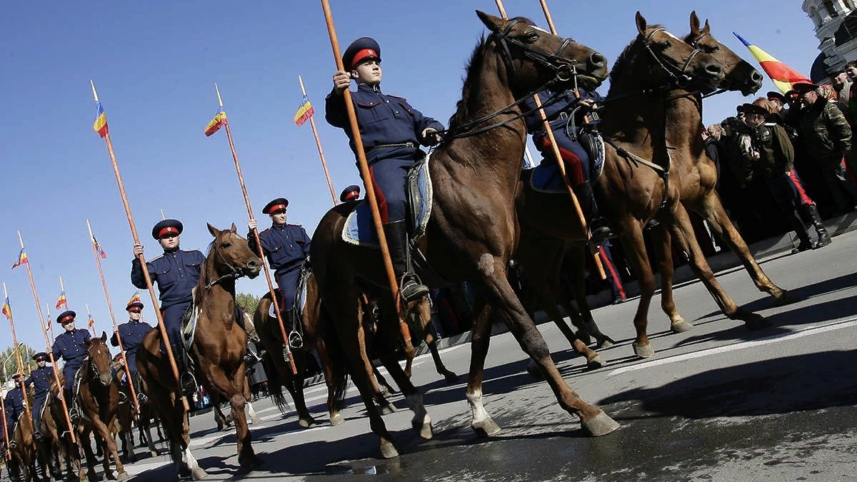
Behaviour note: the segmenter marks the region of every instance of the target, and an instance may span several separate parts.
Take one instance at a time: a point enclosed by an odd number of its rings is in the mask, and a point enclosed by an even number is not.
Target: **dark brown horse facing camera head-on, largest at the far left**
[[[87,473],[83,464],[78,471],[81,480],[95,478],[95,455],[89,440],[94,432],[95,443],[102,446],[104,454],[103,468],[108,479],[125,480],[128,473],[119,460],[116,438],[111,433],[111,425],[117,418],[119,410],[119,388],[113,381],[111,370],[110,348],[107,347],[107,334],[102,332],[100,338],[87,340],[87,359],[81,365],[81,381],[77,391],[77,403],[81,407],[81,421],[75,430],[81,440],[83,453],[87,457]],[[116,465],[117,477],[113,476],[110,460]]]

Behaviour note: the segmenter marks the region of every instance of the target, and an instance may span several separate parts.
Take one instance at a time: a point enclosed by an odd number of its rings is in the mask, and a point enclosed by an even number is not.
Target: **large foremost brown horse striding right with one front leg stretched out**
[[[582,401],[562,379],[542,335],[509,286],[506,269],[518,238],[513,198],[526,140],[519,105],[550,83],[569,81],[572,63],[578,66],[579,81],[598,85],[606,78],[606,61],[596,51],[545,33],[526,19],[504,21],[482,12],[477,15],[491,34],[476,45],[446,142],[434,151],[428,166],[434,199],[419,248],[436,275],[427,275],[421,266],[423,281],[434,286],[442,283],[438,278],[448,283],[476,280],[481,284],[524,352],[547,375],[560,407],[577,415],[590,434],[604,435],[619,425]],[[495,129],[500,125],[502,128]],[[478,127],[482,129],[476,130]],[[369,361],[359,343],[363,327],[357,280],[385,286],[386,277],[379,251],[342,241],[345,219],[353,208],[345,204],[327,212],[315,230],[311,256],[322,298],[369,412],[369,424],[380,438],[381,455],[392,457],[398,452],[373,402],[375,392],[363,370]],[[388,304],[392,306],[392,299]],[[383,308],[381,313],[386,312]],[[475,376],[471,371],[471,383]],[[396,382],[415,412],[412,424],[423,437],[431,437],[422,395],[407,377],[405,384]],[[468,399],[475,398],[481,399],[481,393],[469,386]]]

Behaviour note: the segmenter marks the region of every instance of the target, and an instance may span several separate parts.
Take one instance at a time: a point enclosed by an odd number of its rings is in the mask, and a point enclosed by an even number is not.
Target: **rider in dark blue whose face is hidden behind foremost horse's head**
[[[590,229],[593,241],[610,238],[613,233],[607,226],[606,221],[598,216],[598,206],[595,194],[590,184],[590,172],[592,162],[590,154],[580,144],[580,136],[584,132],[584,117],[586,114],[596,110],[596,103],[602,101],[601,94],[596,91],[578,89],[580,97],[574,94],[574,90],[554,91],[542,90],[538,93],[542,105],[548,104],[549,99],[558,97],[559,100],[544,107],[545,117],[548,117],[550,129],[554,133],[557,147],[560,150],[562,160],[565,161],[566,174],[572,182],[574,194],[578,197],[580,208],[586,219],[590,221]],[[524,102],[524,110],[530,111],[536,108],[536,101],[528,98]],[[577,111],[575,111],[577,109]],[[573,118],[572,118],[573,117]],[[554,149],[550,144],[548,133],[544,129],[542,116],[538,111],[526,117],[527,130],[533,136],[533,143],[542,153],[542,165],[556,164]],[[590,126],[597,124],[596,120],[590,120]]]

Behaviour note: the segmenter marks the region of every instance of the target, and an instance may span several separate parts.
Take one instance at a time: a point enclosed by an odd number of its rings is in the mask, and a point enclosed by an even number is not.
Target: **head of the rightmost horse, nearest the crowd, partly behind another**
[[[762,87],[762,75],[758,70],[715,39],[711,35],[707,20],[705,25],[700,27],[696,11],[691,12],[691,33],[685,37],[685,42],[714,57],[723,66],[724,79],[720,84],[721,88],[750,95]]]

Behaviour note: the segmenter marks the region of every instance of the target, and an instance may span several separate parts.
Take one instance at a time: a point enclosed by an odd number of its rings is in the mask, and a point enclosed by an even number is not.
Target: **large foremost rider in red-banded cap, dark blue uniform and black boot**
[[[400,287],[406,300],[423,298],[428,295],[428,287],[417,282],[409,263],[405,177],[425,155],[420,145],[434,146],[440,142],[443,124],[423,116],[407,100],[381,93],[381,47],[374,39],[363,37],[352,42],[345,49],[342,63],[349,71],[333,74],[333,92],[327,95],[325,118],[328,124],[345,130],[351,150],[357,154],[344,95],[351,79],[357,81],[357,92],[351,93],[351,99],[357,111],[369,175],[375,184],[393,271],[402,280]]]

